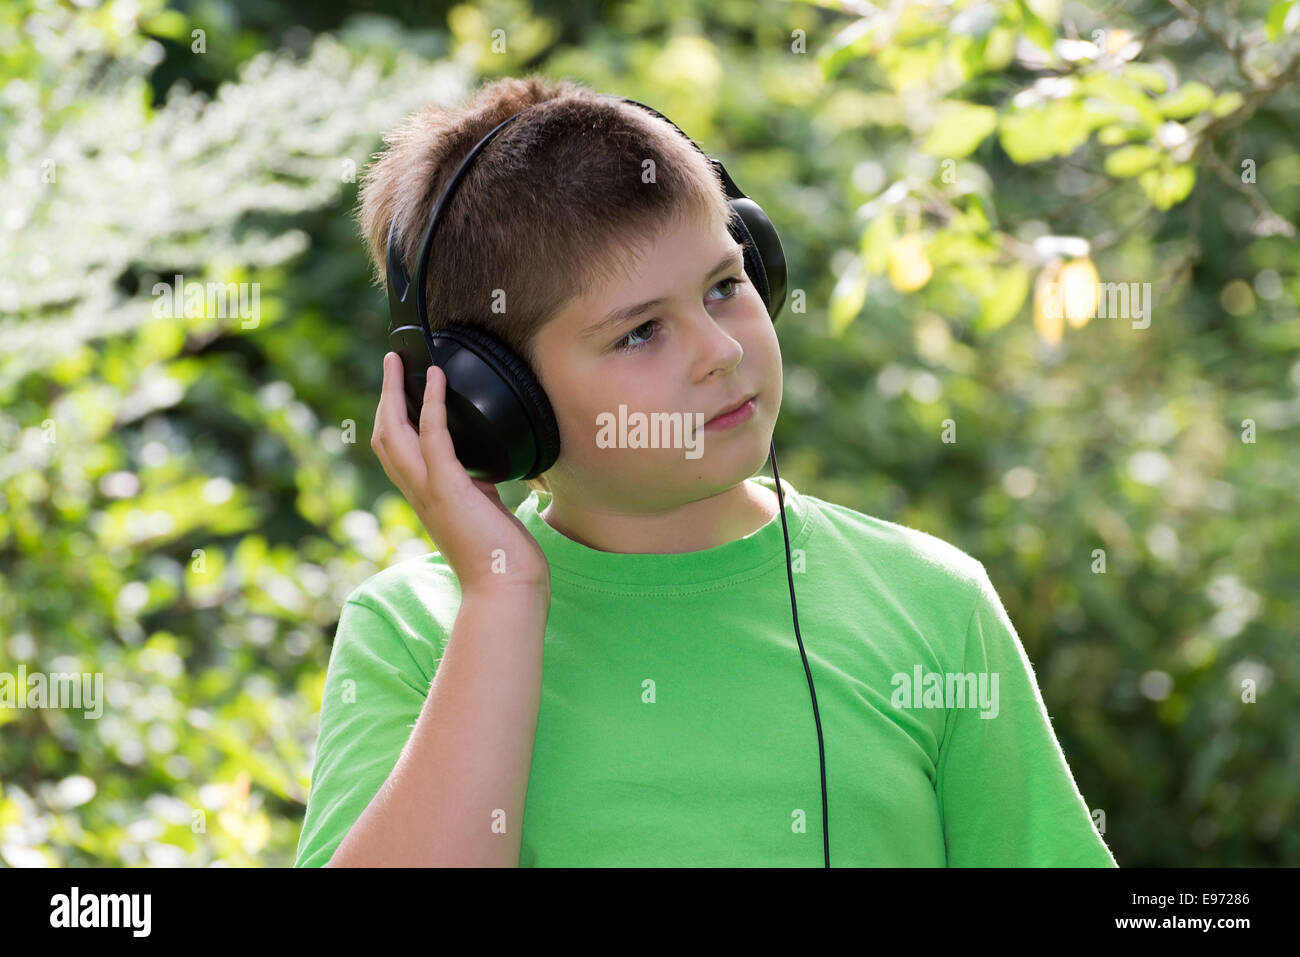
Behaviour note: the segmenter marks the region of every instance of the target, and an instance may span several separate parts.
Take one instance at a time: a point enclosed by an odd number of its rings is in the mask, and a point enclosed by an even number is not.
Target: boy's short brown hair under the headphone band
[[[426,302],[432,330],[485,328],[536,369],[533,337],[572,299],[627,276],[662,228],[712,230],[731,211],[716,170],[671,124],[576,82],[507,77],[459,107],[420,109],[384,138],[358,208],[377,282],[393,217],[413,277],[451,174],[497,124],[532,104],[542,105],[493,138],[443,209]],[[545,475],[526,484],[550,490]]]

